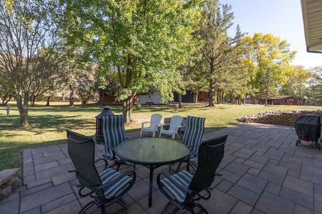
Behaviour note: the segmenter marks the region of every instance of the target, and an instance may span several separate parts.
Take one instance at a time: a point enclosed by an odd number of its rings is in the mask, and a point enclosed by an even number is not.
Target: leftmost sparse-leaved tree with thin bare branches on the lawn
[[[16,99],[22,127],[30,98],[59,70],[60,11],[54,0],[0,2],[0,85]]]

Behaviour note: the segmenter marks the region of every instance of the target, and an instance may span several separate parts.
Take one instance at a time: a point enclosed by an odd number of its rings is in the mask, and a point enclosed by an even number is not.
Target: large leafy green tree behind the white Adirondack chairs
[[[121,93],[124,121],[132,121],[132,98],[158,88],[172,99],[177,66],[194,51],[191,32],[199,1],[67,1],[68,41],[81,44],[88,59],[103,67]],[[69,24],[71,23],[71,24]]]

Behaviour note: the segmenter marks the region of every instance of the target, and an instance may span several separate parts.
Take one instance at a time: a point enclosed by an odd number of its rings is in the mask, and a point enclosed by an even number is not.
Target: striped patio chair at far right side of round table
[[[192,161],[191,158],[196,158],[198,156],[198,149],[201,142],[201,138],[204,131],[205,118],[201,117],[187,117],[185,133],[182,137],[182,143],[186,144],[189,147],[189,155],[186,159],[179,162],[175,172],[177,173],[180,169],[180,166],[183,162],[187,162],[187,171],[190,172],[189,167],[193,168],[193,171],[196,170],[197,163]],[[170,172],[172,173],[172,166],[170,165]]]

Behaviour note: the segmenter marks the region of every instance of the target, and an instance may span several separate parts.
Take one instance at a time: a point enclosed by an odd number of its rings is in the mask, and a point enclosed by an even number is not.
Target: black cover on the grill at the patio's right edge
[[[294,122],[296,134],[299,139],[317,141],[321,134],[320,116],[317,114],[304,114]]]

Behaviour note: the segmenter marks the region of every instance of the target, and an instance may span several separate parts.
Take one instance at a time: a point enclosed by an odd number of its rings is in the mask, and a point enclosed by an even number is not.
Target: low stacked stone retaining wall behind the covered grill
[[[304,114],[318,114],[322,118],[321,111],[301,111],[298,113],[282,112],[280,114],[266,114],[263,117],[244,118],[245,123],[265,123],[294,126],[296,118]]]

